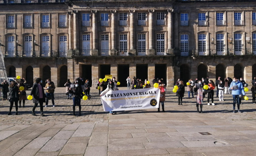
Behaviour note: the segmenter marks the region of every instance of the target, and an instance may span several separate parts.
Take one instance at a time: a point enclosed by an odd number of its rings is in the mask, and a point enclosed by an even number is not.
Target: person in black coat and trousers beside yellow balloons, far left
[[[13,108],[13,104],[15,103],[15,115],[18,115],[18,101],[19,101],[19,87],[15,81],[11,81],[9,86],[9,101],[10,101],[10,108],[9,113],[7,115],[11,115],[11,109]]]

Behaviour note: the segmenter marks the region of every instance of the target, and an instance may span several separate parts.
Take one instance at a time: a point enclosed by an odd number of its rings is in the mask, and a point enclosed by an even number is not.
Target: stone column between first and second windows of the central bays
[[[98,55],[97,10],[92,10],[92,55]]]

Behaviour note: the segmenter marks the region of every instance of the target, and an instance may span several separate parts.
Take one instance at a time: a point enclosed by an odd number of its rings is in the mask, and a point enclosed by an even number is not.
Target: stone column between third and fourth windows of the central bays
[[[130,53],[136,55],[134,48],[134,12],[135,10],[130,10]]]

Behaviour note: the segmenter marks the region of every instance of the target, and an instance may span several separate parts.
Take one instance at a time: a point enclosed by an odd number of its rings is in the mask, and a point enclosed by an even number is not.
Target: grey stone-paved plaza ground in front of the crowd
[[[9,101],[0,101],[0,156],[255,155],[256,104],[249,92],[249,100],[240,105],[243,113],[232,113],[229,94],[224,101],[214,98],[216,105],[204,102],[204,113],[196,113],[195,99],[185,93],[183,105],[178,105],[172,88],[167,90],[165,113],[148,109],[109,115],[95,89],[90,100],[81,100],[82,116],[73,116],[65,88],[56,88],[56,107],[49,101],[45,117],[39,106],[38,116],[31,115],[31,100],[19,108],[19,115],[7,116]]]

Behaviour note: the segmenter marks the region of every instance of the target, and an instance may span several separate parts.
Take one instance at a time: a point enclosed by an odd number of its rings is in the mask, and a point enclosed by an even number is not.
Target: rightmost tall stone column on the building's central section
[[[173,9],[168,9],[167,11],[168,11],[168,19],[167,19],[167,22],[168,22],[168,33],[167,33],[168,48],[167,48],[167,53],[171,54],[171,53],[173,53],[172,52],[172,48],[173,48],[173,45],[172,45],[172,38],[173,38],[172,14],[173,14]]]

